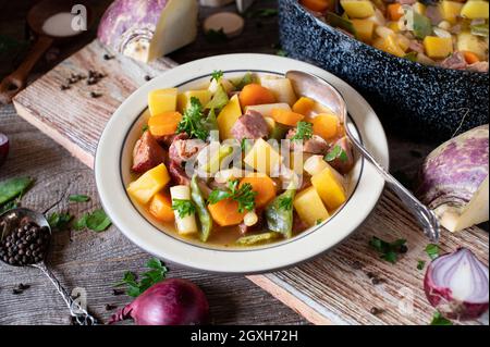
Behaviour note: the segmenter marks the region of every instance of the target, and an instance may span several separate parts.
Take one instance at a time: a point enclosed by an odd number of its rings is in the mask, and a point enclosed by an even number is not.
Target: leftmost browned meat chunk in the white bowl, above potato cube
[[[136,173],[145,173],[166,161],[167,153],[150,132],[145,132],[133,150],[133,168]]]

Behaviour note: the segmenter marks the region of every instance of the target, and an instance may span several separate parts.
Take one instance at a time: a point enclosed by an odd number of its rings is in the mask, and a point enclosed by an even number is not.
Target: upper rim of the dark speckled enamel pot
[[[390,54],[385,51],[382,51],[380,49],[377,49],[366,42],[363,42],[362,40],[356,39],[355,37],[352,37],[345,33],[343,33],[342,30],[336,29],[335,27],[331,26],[330,24],[320,21],[318,17],[316,17],[310,11],[308,11],[307,9],[305,9],[297,0],[280,0],[280,1],[291,1],[299,11],[306,13],[308,16],[310,16],[314,21],[317,22],[317,24],[319,24],[321,27],[323,27],[324,29],[328,29],[330,33],[334,34],[334,35],[340,35],[344,38],[347,38],[354,42],[357,42],[360,47],[367,48],[376,53],[380,53],[382,54],[385,59],[393,59],[394,61],[396,61],[400,65],[402,64],[407,64],[407,66],[412,65],[415,66],[416,69],[418,69],[419,71],[424,71],[424,70],[429,70],[429,71],[433,71],[437,73],[440,73],[442,71],[444,71],[445,73],[449,74],[454,74],[457,75],[458,77],[461,75],[469,75],[469,76],[476,76],[476,77],[488,77],[489,74],[488,72],[478,72],[478,71],[470,71],[470,70],[456,70],[456,69],[448,69],[448,67],[442,67],[442,66],[437,66],[437,65],[427,65],[427,64],[422,64],[416,61],[411,61],[408,59],[404,59],[401,57],[396,57],[394,54]]]

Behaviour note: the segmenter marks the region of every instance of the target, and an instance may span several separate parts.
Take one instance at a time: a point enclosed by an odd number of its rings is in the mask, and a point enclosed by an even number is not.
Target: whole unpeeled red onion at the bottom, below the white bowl
[[[133,319],[136,325],[200,325],[209,305],[203,290],[186,280],[167,280],[149,287],[112,315],[109,324]]]

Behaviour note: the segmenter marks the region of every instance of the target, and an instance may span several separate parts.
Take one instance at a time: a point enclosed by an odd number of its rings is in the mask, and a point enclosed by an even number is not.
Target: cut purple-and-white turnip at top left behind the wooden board
[[[197,13],[196,0],[115,0],[100,21],[98,38],[149,62],[195,39]]]

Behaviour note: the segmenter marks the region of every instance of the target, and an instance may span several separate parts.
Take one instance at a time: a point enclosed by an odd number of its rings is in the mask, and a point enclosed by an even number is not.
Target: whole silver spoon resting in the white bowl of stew
[[[360,141],[352,134],[351,128],[347,126],[347,106],[342,95],[324,79],[308,73],[290,71],[286,73],[286,77],[292,82],[293,87],[298,95],[318,100],[332,112],[341,116],[345,133],[353,146],[378,170],[393,191],[396,193],[400,199],[417,218],[426,236],[437,243],[439,240],[440,225],[436,214],[396,181],[387,169],[378,163],[371,153],[369,153],[363,144],[360,144]]]

